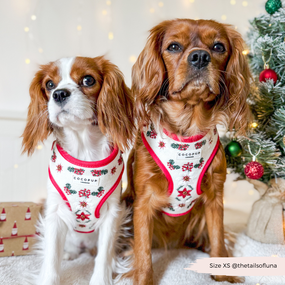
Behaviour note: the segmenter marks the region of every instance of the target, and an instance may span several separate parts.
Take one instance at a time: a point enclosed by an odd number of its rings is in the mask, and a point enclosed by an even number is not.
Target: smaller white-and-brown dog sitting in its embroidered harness
[[[30,85],[23,152],[31,155],[52,132],[44,256],[36,283],[58,285],[64,250],[76,257],[97,246],[89,284],[112,284],[127,268],[116,262],[121,151],[133,141],[133,99],[123,75],[103,57],[62,58],[40,67]]]

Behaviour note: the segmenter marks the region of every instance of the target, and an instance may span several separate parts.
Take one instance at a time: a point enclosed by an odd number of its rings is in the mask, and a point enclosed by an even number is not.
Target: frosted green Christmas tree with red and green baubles
[[[253,75],[247,138],[233,132],[222,139],[228,167],[243,178],[246,172],[264,182],[285,178],[285,10],[281,6],[280,0],[267,1],[268,13],[250,22],[249,51],[244,51]],[[255,156],[258,163],[253,165]]]

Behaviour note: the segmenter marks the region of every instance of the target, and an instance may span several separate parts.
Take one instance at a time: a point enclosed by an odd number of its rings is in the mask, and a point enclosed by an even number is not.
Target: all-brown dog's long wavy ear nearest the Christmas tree
[[[228,89],[228,104],[225,111],[229,118],[229,129],[235,128],[238,134],[245,135],[249,123],[247,96],[251,74],[243,55],[241,34],[230,25],[225,27],[231,45],[231,54],[225,73]]]

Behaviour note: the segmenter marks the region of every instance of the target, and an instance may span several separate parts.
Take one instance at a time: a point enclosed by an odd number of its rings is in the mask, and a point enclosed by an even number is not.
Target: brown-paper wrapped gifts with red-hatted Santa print
[[[0,257],[26,255],[31,251],[41,210],[40,203],[0,203]]]

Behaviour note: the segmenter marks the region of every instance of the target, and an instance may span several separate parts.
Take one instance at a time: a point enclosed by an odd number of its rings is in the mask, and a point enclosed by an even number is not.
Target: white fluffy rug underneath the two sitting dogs
[[[266,245],[253,241],[245,235],[239,235],[235,255],[236,256],[272,256],[285,257],[285,246]],[[229,285],[228,282],[215,282],[209,274],[196,273],[184,270],[188,264],[194,262],[197,257],[208,257],[206,253],[195,249],[170,250],[161,249],[152,251],[152,262],[156,285]],[[61,285],[87,285],[91,278],[94,266],[94,258],[84,253],[72,261],[62,262]],[[27,272],[38,269],[39,264],[34,255],[0,258],[0,284],[23,285],[23,277]],[[245,285],[257,283],[266,285],[284,285],[285,276],[252,276],[246,277]],[[118,285],[132,285],[130,279],[123,279]]]

